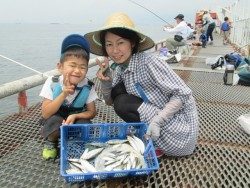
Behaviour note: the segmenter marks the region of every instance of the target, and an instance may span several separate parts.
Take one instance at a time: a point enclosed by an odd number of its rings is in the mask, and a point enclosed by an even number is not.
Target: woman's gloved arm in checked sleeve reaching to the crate
[[[150,121],[147,134],[156,139],[160,135],[160,128],[167,119],[171,118],[185,105],[192,95],[191,90],[181,78],[165,63],[158,58],[152,59],[148,64],[148,73],[154,83],[170,100],[154,113]]]

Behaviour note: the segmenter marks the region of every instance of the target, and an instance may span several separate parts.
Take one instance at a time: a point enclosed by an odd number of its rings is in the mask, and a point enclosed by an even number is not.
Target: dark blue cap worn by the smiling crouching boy
[[[89,55],[89,43],[82,35],[71,34],[67,36],[62,42],[61,54],[65,53],[70,47],[78,46],[84,49]]]

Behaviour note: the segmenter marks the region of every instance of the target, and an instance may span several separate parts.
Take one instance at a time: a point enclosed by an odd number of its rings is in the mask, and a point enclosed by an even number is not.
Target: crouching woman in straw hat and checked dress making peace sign
[[[107,104],[126,122],[147,123],[147,135],[167,155],[183,156],[195,149],[198,118],[191,90],[158,57],[144,53],[154,42],[135,29],[123,13],[109,17],[105,26],[85,35],[90,51],[118,65],[114,73],[102,67],[97,77]],[[158,150],[159,151],[159,150]]]

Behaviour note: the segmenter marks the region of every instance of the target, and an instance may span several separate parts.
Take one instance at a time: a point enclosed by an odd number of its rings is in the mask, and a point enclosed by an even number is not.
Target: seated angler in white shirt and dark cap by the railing
[[[175,18],[177,25],[175,27],[164,26],[163,30],[174,34],[173,38],[166,40],[166,47],[169,51],[177,52],[177,47],[185,46],[187,37],[190,35],[190,28],[184,21],[184,15],[178,14]]]

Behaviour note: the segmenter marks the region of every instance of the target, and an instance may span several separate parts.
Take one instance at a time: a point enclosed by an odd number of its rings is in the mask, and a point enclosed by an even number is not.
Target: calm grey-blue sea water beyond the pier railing
[[[0,55],[11,58],[39,72],[56,68],[60,58],[62,40],[69,34],[97,30],[96,25],[76,24],[0,24]],[[159,25],[138,27],[154,41],[166,38],[167,33]],[[91,58],[94,56],[91,55]],[[95,77],[96,68],[91,68],[88,77]],[[0,57],[0,85],[37,73]],[[28,105],[41,101],[42,86],[27,90]],[[0,99],[0,117],[17,113],[17,94]]]

